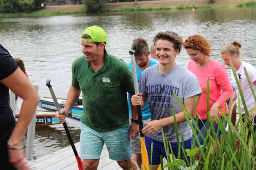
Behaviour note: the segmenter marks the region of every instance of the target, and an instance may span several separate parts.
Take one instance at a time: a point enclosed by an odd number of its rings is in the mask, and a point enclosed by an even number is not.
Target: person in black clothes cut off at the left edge
[[[9,89],[24,101],[15,125],[9,105]],[[34,86],[18,67],[10,53],[0,44],[0,169],[28,170],[22,150],[22,137],[39,102]]]

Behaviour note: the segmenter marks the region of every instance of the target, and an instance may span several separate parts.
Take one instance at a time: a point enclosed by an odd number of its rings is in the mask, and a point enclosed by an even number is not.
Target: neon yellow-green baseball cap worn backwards
[[[85,39],[81,37],[81,40],[84,42],[106,42],[106,44],[108,45],[107,42],[107,34],[105,33],[105,31],[98,27],[98,26],[90,26],[88,28],[86,28],[82,34],[82,36],[84,34],[88,34],[90,35],[91,39]],[[109,45],[108,45],[109,47]]]

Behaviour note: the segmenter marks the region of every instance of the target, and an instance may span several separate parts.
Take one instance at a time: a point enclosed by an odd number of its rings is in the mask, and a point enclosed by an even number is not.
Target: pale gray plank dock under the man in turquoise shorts
[[[80,152],[80,142],[75,144]],[[30,170],[76,170],[78,169],[76,157],[71,146],[60,149],[36,160],[29,160]],[[104,145],[100,155],[98,170],[122,170],[116,161],[108,158],[108,150]]]

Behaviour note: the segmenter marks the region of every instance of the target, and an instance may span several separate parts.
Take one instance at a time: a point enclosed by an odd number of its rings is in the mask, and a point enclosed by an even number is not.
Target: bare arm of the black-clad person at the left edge
[[[27,131],[37,104],[40,100],[35,87],[28,81],[26,75],[18,68],[10,76],[0,80],[0,83],[10,88],[12,92],[20,96],[24,101],[20,109],[19,121],[13,129],[10,139],[18,145]]]

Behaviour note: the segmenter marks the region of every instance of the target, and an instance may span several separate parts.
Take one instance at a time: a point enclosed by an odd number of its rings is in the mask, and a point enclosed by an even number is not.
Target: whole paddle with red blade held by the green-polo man
[[[55,96],[55,94],[54,94],[54,92],[53,92],[52,85],[50,84],[50,82],[51,82],[50,79],[46,80],[46,85],[47,85],[47,87],[48,87],[49,90],[50,90],[50,93],[51,93],[51,95],[52,95],[52,99],[53,99],[53,101],[54,101],[54,104],[55,104],[55,106],[56,106],[56,109],[57,109],[57,111],[59,112],[59,111],[60,111],[60,105],[59,105],[59,103],[58,103],[58,101],[57,101],[57,99],[56,99],[56,96]],[[79,170],[83,170],[83,169],[84,169],[84,167],[83,167],[83,162],[82,162],[81,158],[78,156],[78,154],[77,154],[77,152],[76,152],[76,147],[75,147],[75,144],[74,144],[74,142],[73,142],[73,139],[72,139],[72,137],[71,137],[71,135],[70,135],[70,133],[69,133],[67,123],[64,122],[64,123],[62,123],[62,124],[63,124],[64,129],[65,129],[65,131],[66,131],[66,134],[67,134],[67,136],[68,136],[69,143],[70,143],[70,145],[71,145],[71,147],[72,147],[72,149],[73,149],[73,152],[74,152],[74,154],[75,154],[75,156],[76,156],[76,161],[77,161],[78,168],[79,168]]]

